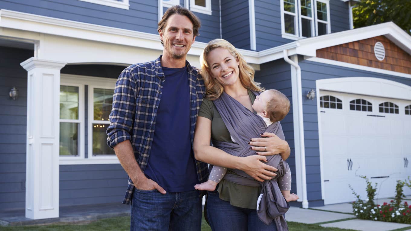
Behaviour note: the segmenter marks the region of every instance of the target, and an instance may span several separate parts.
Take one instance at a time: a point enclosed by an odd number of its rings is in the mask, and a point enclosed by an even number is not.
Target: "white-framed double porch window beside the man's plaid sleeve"
[[[62,74],[60,164],[118,163],[106,129],[115,79]]]

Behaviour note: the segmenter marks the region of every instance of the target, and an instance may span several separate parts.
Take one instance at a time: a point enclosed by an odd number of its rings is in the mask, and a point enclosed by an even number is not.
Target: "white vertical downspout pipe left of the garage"
[[[300,184],[302,187],[302,208],[308,208],[307,200],[307,177],[305,175],[305,144],[304,144],[304,122],[302,119],[302,87],[301,87],[301,68],[298,65],[298,55],[293,55],[294,61],[288,58],[288,50],[283,51],[284,60],[295,68],[291,70],[291,86],[293,90],[293,121],[294,121],[294,150],[296,152],[296,168],[300,162]],[[293,81],[294,80],[294,81]],[[294,92],[296,94],[294,94]],[[294,97],[296,96],[296,97]],[[297,118],[296,118],[297,117]],[[300,157],[297,159],[297,157]],[[298,169],[296,169],[298,171]],[[296,174],[296,176],[298,176]],[[298,190],[298,189],[297,189]],[[299,191],[299,190],[298,190]],[[299,193],[299,192],[298,192]]]

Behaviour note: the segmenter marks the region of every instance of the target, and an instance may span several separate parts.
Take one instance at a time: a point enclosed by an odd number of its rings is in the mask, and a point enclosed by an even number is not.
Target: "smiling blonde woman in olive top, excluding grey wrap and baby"
[[[196,159],[212,165],[244,171],[255,180],[263,182],[276,176],[276,168],[263,164],[266,155],[280,154],[287,159],[290,154],[288,143],[271,133],[266,138],[250,137],[250,149],[256,154],[236,157],[210,146],[210,141],[232,143],[230,133],[221,115],[213,104],[223,92],[238,101],[250,111],[255,99],[254,92],[262,92],[259,83],[254,82],[254,69],[242,58],[236,48],[224,39],[214,39],[205,47],[201,74],[207,89],[197,118],[194,135]],[[206,215],[212,230],[277,230],[274,222],[264,224],[256,212],[256,201],[261,187],[251,187],[222,180],[215,192],[208,193]]]

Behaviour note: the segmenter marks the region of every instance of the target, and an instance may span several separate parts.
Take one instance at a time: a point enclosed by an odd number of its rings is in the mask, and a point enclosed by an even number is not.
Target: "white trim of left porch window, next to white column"
[[[65,81],[63,79],[60,80],[60,85],[65,86],[73,86],[79,88],[79,119],[77,120],[69,120],[69,119],[60,119],[59,122],[76,122],[79,124],[79,135],[78,135],[78,144],[77,147],[79,148],[79,155],[78,156],[60,156],[60,160],[79,160],[84,159],[84,85],[74,83],[73,81]],[[60,111],[60,109],[59,109]],[[59,129],[60,131],[60,129]],[[60,136],[60,133],[59,133]],[[60,146],[60,144],[59,144]]]

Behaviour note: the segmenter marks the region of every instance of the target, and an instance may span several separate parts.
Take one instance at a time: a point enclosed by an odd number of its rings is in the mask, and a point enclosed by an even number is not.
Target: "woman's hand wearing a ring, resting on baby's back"
[[[290,156],[287,141],[270,132],[264,132],[261,136],[264,138],[253,138],[249,142],[249,145],[252,145],[251,149],[257,151],[256,154],[263,156],[280,154],[284,160]]]

